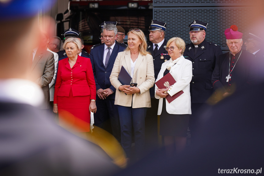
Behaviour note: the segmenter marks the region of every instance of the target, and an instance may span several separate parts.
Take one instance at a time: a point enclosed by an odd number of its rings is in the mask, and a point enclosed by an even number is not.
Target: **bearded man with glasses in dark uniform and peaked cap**
[[[199,119],[197,119],[199,112],[202,112],[202,108],[206,106],[206,101],[213,93],[211,77],[216,59],[223,54],[220,46],[205,40],[207,25],[208,23],[194,20],[188,26],[190,27],[191,43],[186,45],[184,51],[185,59],[192,62],[193,75],[190,83],[192,114],[189,124],[192,138],[195,137],[199,127]]]

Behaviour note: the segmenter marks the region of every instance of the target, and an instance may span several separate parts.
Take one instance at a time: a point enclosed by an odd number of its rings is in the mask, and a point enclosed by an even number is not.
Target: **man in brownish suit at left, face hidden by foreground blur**
[[[40,45],[39,48],[33,49],[30,58],[32,79],[42,88],[45,97],[40,109],[50,109],[49,84],[55,72],[54,55],[46,49]]]

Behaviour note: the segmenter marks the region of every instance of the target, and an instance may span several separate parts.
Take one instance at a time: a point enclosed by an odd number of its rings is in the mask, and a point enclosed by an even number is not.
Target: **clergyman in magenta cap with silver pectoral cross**
[[[225,30],[226,44],[229,52],[218,57],[212,74],[214,90],[226,97],[234,91],[250,86],[252,83],[252,63],[254,55],[242,50],[243,33],[236,25]]]

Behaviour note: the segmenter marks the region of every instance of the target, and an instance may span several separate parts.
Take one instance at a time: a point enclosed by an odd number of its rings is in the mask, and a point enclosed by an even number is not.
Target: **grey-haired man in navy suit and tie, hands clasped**
[[[96,107],[94,114],[95,126],[107,131],[110,120],[113,136],[120,141],[120,122],[117,106],[114,105],[116,89],[110,83],[110,74],[113,64],[119,52],[125,49],[125,44],[116,41],[116,25],[106,24],[103,27],[104,43],[95,45],[90,52],[90,59],[95,76],[96,84]]]

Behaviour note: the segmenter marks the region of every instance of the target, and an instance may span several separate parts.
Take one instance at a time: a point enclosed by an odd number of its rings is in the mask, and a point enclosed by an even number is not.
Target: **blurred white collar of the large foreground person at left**
[[[40,107],[44,101],[42,89],[26,79],[0,79],[0,101]]]

